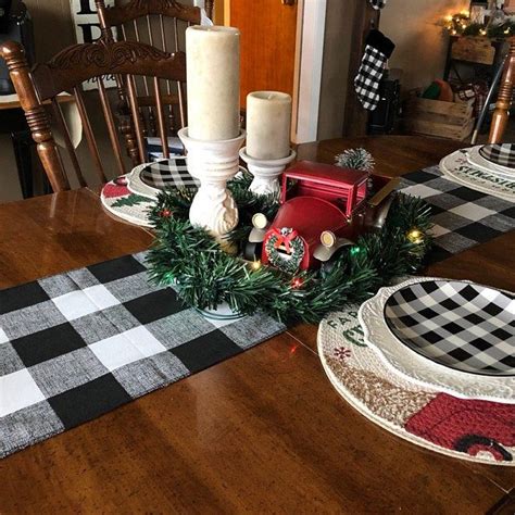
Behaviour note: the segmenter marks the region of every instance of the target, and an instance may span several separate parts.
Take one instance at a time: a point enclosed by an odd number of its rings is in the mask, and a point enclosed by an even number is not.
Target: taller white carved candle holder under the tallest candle
[[[188,127],[184,127],[178,136],[188,151],[188,172],[200,180],[189,219],[213,236],[223,237],[238,225],[238,208],[227,189],[227,180],[238,173],[238,150],[246,133],[241,130],[233,139],[202,141],[190,138]]]

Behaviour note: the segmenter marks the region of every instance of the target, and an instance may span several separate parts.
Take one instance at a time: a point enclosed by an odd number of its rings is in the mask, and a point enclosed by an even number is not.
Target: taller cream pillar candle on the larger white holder
[[[188,135],[202,141],[240,134],[240,32],[233,27],[186,29]]]

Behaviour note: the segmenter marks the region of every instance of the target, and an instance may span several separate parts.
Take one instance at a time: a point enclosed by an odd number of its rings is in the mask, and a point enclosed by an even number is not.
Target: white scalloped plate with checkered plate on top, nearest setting
[[[448,393],[515,403],[515,298],[468,281],[414,278],[360,309],[365,340],[398,373]]]

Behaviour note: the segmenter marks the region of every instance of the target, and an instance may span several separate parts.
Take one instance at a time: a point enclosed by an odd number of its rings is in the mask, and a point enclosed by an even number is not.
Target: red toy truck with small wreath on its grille
[[[329,266],[357,236],[382,227],[395,185],[397,179],[300,161],[282,174],[274,221],[254,215],[246,258],[292,274]]]

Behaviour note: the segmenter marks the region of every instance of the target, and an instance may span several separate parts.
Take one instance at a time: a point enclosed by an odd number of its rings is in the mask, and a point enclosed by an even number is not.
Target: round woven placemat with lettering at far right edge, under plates
[[[470,165],[468,152],[472,149],[456,150],[440,161],[440,171],[454,183],[482,193],[515,202],[515,180],[489,173]]]

